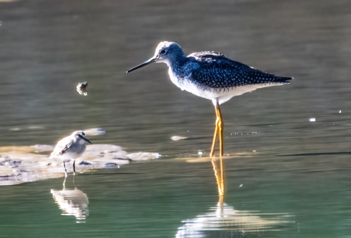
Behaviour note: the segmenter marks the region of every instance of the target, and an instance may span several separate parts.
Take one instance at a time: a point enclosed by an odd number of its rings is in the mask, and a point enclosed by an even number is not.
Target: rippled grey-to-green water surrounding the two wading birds
[[[351,237],[350,9],[342,0],[1,2],[0,146],[103,127],[94,144],[162,157],[77,174],[88,198],[81,223],[53,198],[63,178],[1,186],[0,237]],[[125,73],[164,40],[294,77],[221,105],[219,213],[204,158],[212,103],[174,86],[165,64]],[[75,91],[82,81],[87,97]]]

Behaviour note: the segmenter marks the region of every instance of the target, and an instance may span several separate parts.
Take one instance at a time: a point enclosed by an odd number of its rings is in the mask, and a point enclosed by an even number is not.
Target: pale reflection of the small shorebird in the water
[[[62,190],[52,189],[51,194],[55,203],[59,205],[63,212],[61,215],[75,216],[77,223],[85,223],[85,218],[89,216],[89,200],[87,194],[75,186],[74,177],[72,184],[69,184],[67,187],[65,178]]]

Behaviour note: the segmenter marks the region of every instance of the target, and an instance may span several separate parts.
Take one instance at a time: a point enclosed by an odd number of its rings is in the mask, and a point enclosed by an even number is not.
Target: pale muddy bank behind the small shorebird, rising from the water
[[[65,176],[61,160],[49,158],[53,148],[51,145],[0,147],[0,185]],[[84,154],[75,160],[75,171],[85,173],[94,169],[119,167],[133,160],[159,157],[159,153],[128,153],[121,146],[93,144],[87,145]],[[73,172],[72,163],[66,163],[68,173]]]

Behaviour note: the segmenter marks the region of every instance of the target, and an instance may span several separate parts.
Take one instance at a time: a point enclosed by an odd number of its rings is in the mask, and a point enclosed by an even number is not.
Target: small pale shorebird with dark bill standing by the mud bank
[[[67,170],[65,162],[73,160],[73,174],[75,174],[75,159],[79,158],[85,151],[86,142],[93,144],[85,138],[82,131],[75,131],[68,137],[60,140],[51,153],[52,158],[59,158],[65,168],[65,176],[67,177]]]

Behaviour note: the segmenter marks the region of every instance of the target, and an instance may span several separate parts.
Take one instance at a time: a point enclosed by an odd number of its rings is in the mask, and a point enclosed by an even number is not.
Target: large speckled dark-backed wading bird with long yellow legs
[[[168,41],[160,42],[151,59],[131,68],[127,73],[152,62],[166,63],[172,82],[181,90],[212,100],[217,119],[211,157],[214,156],[214,147],[218,139],[219,154],[223,156],[224,124],[220,104],[257,88],[289,84],[289,80],[293,79],[264,73],[213,51],[192,53],[186,57],[178,44]]]

